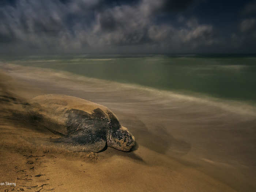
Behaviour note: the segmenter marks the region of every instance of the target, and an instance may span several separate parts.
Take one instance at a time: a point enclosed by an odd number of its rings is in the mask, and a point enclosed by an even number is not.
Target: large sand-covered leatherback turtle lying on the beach
[[[95,153],[107,145],[129,151],[135,145],[131,132],[103,105],[59,94],[40,95],[29,103],[38,124],[61,135],[52,141],[71,150]]]

